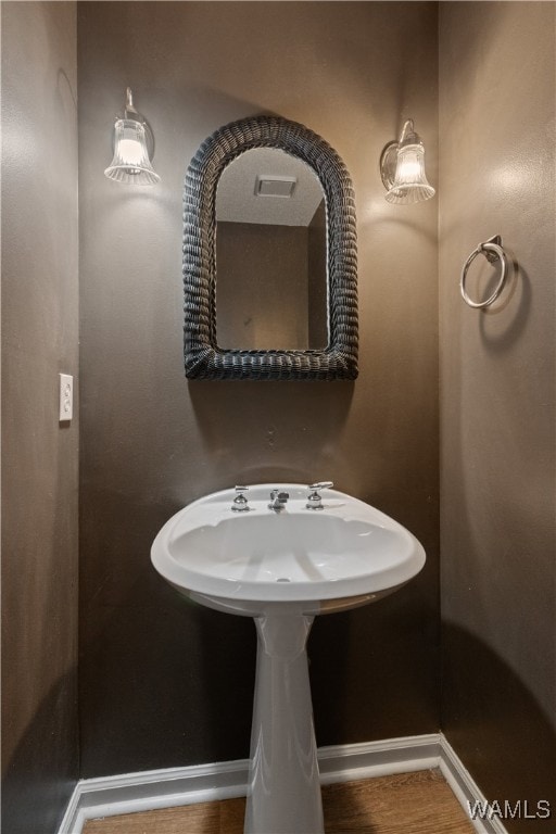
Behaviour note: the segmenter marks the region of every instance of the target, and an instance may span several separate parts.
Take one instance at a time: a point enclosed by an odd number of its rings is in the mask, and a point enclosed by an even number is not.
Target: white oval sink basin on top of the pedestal
[[[268,508],[275,488],[290,495],[279,511]],[[244,513],[231,510],[232,490],[200,498],[162,528],[153,565],[188,596],[250,616],[276,603],[304,614],[363,605],[422,568],[421,545],[389,516],[336,490],[321,491],[324,509],[307,509],[307,494],[294,483],[250,486]]]

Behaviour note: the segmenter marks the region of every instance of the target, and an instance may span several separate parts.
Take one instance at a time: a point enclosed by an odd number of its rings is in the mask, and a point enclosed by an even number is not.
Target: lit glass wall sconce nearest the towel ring
[[[420,203],[434,197],[425,173],[425,146],[413,129],[413,118],[405,122],[399,142],[389,142],[380,156],[380,175],[389,203]]]

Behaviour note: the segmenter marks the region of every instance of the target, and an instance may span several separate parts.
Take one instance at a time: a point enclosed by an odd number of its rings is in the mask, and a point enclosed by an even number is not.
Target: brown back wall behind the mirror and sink
[[[378,173],[413,116],[435,179],[435,38],[433,3],[80,5],[85,776],[249,754],[253,624],[179,599],[149,556],[174,511],[235,483],[330,478],[422,541],[406,589],[317,621],[311,669],[321,745],[438,730],[437,205],[390,206]],[[151,190],[102,175],[127,85],[156,135]],[[352,175],[355,383],[184,378],[186,167],[256,113],[307,125]]]

